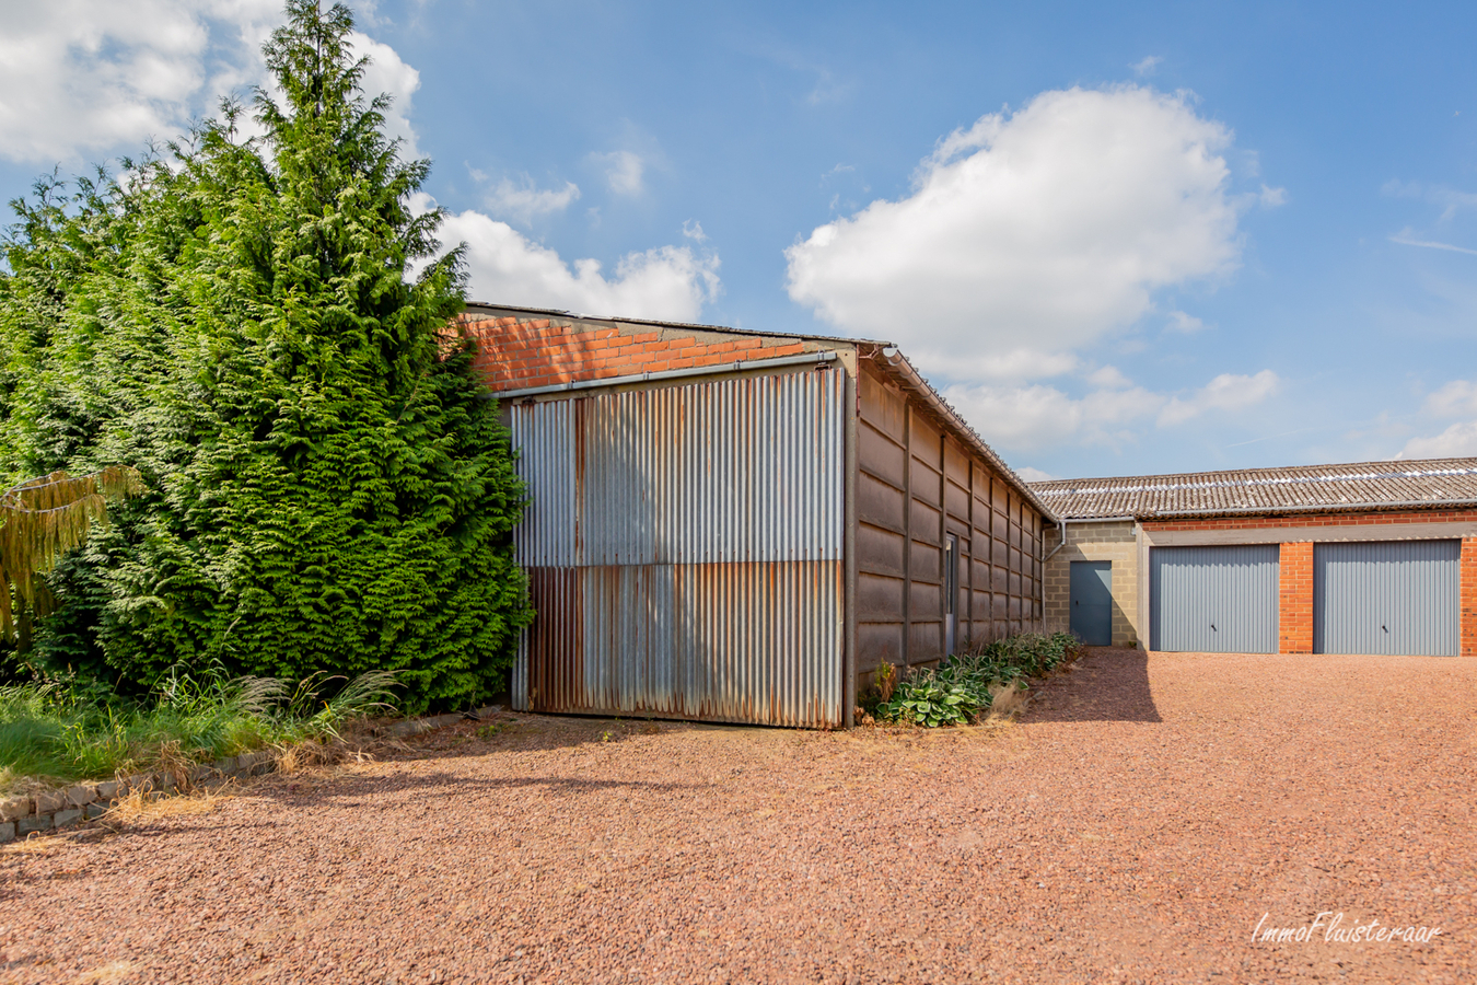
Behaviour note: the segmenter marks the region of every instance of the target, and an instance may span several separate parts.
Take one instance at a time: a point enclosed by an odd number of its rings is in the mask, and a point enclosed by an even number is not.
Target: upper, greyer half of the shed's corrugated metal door
[[[514,405],[529,566],[835,561],[843,375]]]

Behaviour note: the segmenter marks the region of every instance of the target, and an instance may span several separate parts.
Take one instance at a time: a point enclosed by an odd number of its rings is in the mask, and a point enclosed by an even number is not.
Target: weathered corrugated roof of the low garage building
[[[1031,489],[1068,520],[1428,509],[1477,504],[1477,458],[1062,478]]]

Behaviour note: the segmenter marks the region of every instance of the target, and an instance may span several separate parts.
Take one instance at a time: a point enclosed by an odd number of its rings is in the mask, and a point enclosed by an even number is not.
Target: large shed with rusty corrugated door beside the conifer
[[[1041,628],[1050,509],[891,344],[473,304],[518,450],[523,710],[849,725]]]

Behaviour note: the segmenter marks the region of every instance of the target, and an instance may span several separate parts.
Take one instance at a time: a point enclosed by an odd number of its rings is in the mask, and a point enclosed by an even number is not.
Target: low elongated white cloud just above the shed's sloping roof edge
[[[1083,397],[1044,384],[988,382],[954,384],[944,388],[944,397],[991,445],[1037,450],[1137,442],[1151,424],[1162,428],[1202,413],[1241,411],[1269,397],[1279,382],[1270,369],[1254,377],[1221,374],[1182,397],[1134,385],[1114,366],[1102,366],[1084,380],[1093,388]]]

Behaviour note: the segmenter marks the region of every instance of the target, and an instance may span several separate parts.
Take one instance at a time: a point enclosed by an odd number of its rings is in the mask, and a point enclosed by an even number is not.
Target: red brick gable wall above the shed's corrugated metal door
[[[647,325],[580,328],[546,318],[462,315],[477,340],[476,365],[493,390],[631,377],[642,372],[713,366],[746,359],[798,356],[792,338],[721,335]],[[811,346],[814,351],[817,347]]]

